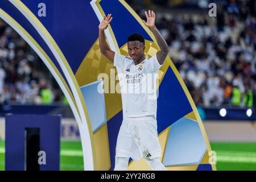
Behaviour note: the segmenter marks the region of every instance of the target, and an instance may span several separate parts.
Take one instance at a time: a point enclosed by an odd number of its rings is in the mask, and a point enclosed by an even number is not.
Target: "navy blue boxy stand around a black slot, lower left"
[[[40,151],[46,152],[46,164],[40,170],[60,169],[60,119],[59,115],[6,115],[5,169],[24,170],[25,128],[40,129]]]

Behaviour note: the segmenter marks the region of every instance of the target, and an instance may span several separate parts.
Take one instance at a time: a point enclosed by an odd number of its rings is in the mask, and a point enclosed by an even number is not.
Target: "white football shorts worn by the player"
[[[157,123],[154,115],[137,118],[125,118],[119,129],[115,156],[154,159],[161,156]]]

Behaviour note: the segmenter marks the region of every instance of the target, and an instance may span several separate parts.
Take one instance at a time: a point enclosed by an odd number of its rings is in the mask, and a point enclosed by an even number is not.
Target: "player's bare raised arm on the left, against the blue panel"
[[[108,14],[108,16],[104,16],[104,19],[101,21],[101,23],[98,26],[98,40],[100,44],[101,53],[106,56],[110,61],[114,63],[114,56],[115,52],[110,49],[108,43],[106,42],[106,37],[104,30],[108,28],[109,23],[112,21],[111,14]]]

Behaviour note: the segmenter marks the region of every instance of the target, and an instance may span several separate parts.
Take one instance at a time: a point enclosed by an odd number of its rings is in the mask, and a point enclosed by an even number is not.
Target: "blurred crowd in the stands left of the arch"
[[[61,97],[43,61],[0,19],[0,110],[9,104],[52,104]]]

